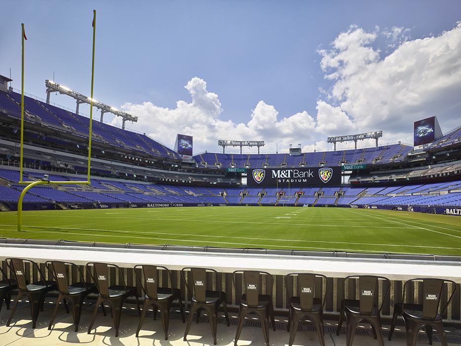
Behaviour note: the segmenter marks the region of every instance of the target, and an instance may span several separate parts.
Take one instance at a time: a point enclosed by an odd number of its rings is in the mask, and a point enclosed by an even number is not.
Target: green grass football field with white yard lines
[[[351,208],[185,207],[0,213],[2,237],[461,256],[461,217]]]

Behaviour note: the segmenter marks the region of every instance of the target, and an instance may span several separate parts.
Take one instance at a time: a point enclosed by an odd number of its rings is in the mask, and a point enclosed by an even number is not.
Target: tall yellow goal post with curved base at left
[[[24,39],[26,39],[26,34],[24,32],[24,24],[21,24],[21,33],[22,33],[22,78],[21,78],[21,144],[20,144],[20,173],[19,173],[19,183],[26,184],[27,186],[21,191],[18,199],[18,220],[17,220],[17,229],[19,232],[22,231],[22,202],[26,192],[40,184],[56,184],[56,185],[69,185],[69,184],[91,184],[90,181],[90,169],[91,169],[91,134],[92,134],[92,123],[93,123],[93,86],[94,86],[94,51],[95,51],[95,41],[96,41],[96,10],[93,10],[93,54],[91,60],[91,102],[90,102],[90,126],[88,133],[88,167],[87,167],[87,180],[83,181],[52,181],[42,178],[37,181],[23,181],[23,148],[24,148]],[[27,39],[26,39],[27,40]]]

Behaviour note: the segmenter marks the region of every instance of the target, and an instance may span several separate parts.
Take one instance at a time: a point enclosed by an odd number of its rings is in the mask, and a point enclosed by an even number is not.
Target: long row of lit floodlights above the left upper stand
[[[91,104],[91,97],[85,96],[77,91],[71,90],[68,87],[64,87],[62,85],[59,85],[57,83],[54,83],[53,81],[46,80],[45,81],[45,86],[46,86],[46,103],[50,103],[50,94],[52,92],[59,92],[60,94],[68,95],[73,98],[75,98],[77,106],[75,112],[78,114],[78,106],[80,103],[88,103]],[[123,111],[119,111],[118,109],[111,107],[105,103],[96,101],[95,99],[93,101],[93,106],[101,110],[101,123],[103,122],[104,118],[104,113],[112,113],[116,115],[117,117],[122,118],[122,129],[125,129],[125,122],[126,121],[131,121],[133,123],[138,121],[138,117],[135,117],[134,115],[125,113]]]

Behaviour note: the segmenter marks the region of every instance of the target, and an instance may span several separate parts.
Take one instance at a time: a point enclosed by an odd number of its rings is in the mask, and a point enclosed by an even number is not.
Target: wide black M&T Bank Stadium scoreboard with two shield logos
[[[341,184],[341,167],[247,170],[248,186],[328,186]]]

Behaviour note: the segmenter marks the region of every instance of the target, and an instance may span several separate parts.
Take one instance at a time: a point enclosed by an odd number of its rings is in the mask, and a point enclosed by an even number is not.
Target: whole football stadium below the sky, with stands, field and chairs
[[[167,145],[94,99],[90,14],[87,91],[28,92],[27,23],[21,80],[0,65],[1,345],[461,344],[459,114]]]

